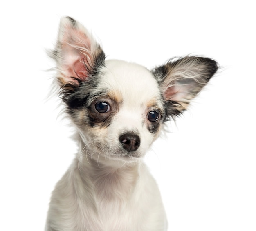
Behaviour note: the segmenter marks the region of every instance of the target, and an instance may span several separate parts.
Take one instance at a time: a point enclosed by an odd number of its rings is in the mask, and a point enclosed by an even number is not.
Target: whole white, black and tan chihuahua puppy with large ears
[[[166,231],[157,184],[142,158],[216,73],[216,61],[171,59],[148,70],[106,60],[76,20],[61,19],[51,53],[79,152],[52,193],[47,231]]]

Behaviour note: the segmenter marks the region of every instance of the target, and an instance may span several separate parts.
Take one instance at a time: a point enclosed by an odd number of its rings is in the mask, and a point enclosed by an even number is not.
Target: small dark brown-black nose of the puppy
[[[135,133],[125,133],[119,140],[126,151],[136,151],[140,145],[140,138]]]

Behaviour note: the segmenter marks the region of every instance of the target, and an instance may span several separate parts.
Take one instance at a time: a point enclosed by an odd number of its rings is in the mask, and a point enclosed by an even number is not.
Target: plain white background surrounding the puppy
[[[100,39],[108,58],[148,68],[199,54],[222,67],[172,133],[146,156],[170,231],[256,230],[256,17],[253,1],[2,1],[0,230],[43,230],[54,184],[76,145],[46,100],[61,16]],[[146,192],[145,192],[146,193]]]

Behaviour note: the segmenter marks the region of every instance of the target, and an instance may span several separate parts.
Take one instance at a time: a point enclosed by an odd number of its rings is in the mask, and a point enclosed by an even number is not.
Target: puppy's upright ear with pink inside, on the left
[[[70,17],[61,19],[57,44],[51,56],[56,61],[61,87],[86,81],[105,60],[105,54],[92,35]]]

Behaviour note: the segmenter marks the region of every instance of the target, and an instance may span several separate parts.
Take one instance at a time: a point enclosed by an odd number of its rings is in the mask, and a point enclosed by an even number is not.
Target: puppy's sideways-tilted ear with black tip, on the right
[[[216,61],[197,56],[170,60],[153,69],[153,75],[162,89],[168,107],[167,117],[180,115],[217,69]]]

